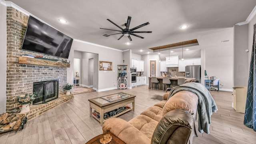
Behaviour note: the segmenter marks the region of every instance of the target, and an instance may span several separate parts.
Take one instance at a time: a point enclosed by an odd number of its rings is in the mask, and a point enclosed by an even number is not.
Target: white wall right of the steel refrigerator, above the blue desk
[[[201,48],[205,50],[205,69],[208,75],[220,78],[220,84],[224,84],[220,90],[232,90],[233,28],[202,34],[198,40]],[[222,42],[222,40],[230,41]]]

